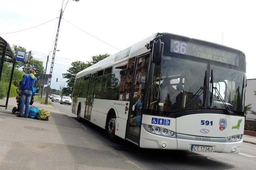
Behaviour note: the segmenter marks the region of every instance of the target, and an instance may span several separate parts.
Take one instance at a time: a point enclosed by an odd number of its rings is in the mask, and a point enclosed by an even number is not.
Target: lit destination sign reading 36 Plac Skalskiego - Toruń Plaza
[[[170,52],[239,66],[239,55],[236,53],[187,41],[171,39]]]

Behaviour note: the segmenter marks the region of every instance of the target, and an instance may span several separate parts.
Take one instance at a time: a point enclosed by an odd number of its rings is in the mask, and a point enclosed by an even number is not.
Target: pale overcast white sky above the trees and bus
[[[0,4],[0,36],[11,47],[31,50],[44,66],[50,54],[49,74],[58,17],[65,8],[51,80],[51,88],[57,90],[67,85],[62,73],[73,61],[113,55],[157,32],[238,49],[246,55],[247,79],[252,79],[256,78],[254,7],[252,0],[6,0]]]

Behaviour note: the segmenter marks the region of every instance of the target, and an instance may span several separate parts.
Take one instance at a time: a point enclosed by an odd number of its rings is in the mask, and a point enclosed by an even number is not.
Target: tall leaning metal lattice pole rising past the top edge
[[[75,1],[78,2],[79,0],[75,0]],[[63,15],[63,11],[62,11],[63,2],[64,2],[64,0],[62,1],[62,6],[61,6],[61,10],[60,10],[60,18],[59,18],[58,29],[57,29],[56,38],[55,38],[54,50],[53,50],[53,54],[52,54],[52,64],[51,64],[51,68],[50,68],[50,77],[48,79],[48,86],[47,86],[46,98],[45,98],[44,104],[48,103],[48,96],[49,96],[50,85],[51,85],[51,80],[52,80],[52,69],[53,69],[56,47],[57,47],[57,42],[58,42],[58,35],[59,35],[59,30],[60,30],[60,21],[61,21],[62,15]],[[65,8],[66,8],[66,6],[65,6]],[[64,10],[65,10],[65,8],[64,8]]]

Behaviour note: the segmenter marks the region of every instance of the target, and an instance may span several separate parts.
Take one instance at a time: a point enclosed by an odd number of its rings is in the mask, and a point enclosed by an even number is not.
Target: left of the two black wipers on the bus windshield
[[[192,102],[194,102],[195,100],[195,96],[201,96],[202,93],[204,93],[203,95],[203,100],[205,101],[205,96],[206,96],[206,77],[207,77],[207,70],[205,70],[205,74],[204,74],[204,86],[200,87],[197,92],[192,96],[192,98],[190,98],[190,100],[188,100],[188,102],[185,104],[185,107],[183,107],[182,109],[180,109],[180,111],[178,111],[178,115],[180,115],[183,111],[186,110],[186,108],[188,106],[190,106],[190,104],[192,104]],[[204,107],[204,102],[202,104],[202,107]]]

